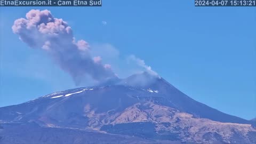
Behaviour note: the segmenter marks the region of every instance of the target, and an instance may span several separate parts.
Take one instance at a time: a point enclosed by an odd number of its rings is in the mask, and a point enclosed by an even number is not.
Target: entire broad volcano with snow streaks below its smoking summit
[[[0,108],[0,143],[256,143],[231,116],[149,73]]]

